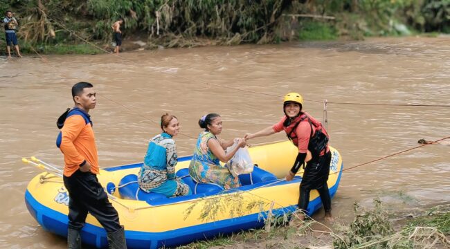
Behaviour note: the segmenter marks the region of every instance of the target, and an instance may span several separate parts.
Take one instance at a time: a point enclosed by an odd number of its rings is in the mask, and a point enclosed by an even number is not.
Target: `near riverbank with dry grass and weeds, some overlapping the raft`
[[[233,193],[228,201],[242,201],[240,193]],[[395,215],[386,211],[379,199],[374,200],[374,208],[365,210],[354,204],[354,220],[350,224],[335,223],[333,229],[323,223],[309,219],[299,221],[296,213],[289,213],[290,222],[286,216],[267,216],[269,203],[267,200],[254,199],[243,207],[233,205],[223,207],[221,202],[205,199],[200,212],[200,219],[214,219],[219,212],[229,212],[235,216],[242,215],[246,208],[260,207],[266,229],[250,230],[221,236],[210,241],[199,241],[180,248],[251,248],[257,243],[260,248],[449,248],[450,247],[450,204],[438,205],[416,217],[401,221],[393,221]],[[190,209],[195,208],[193,205]],[[186,215],[191,210],[187,210]],[[269,209],[271,212],[271,209]],[[403,225],[399,225],[402,223]]]

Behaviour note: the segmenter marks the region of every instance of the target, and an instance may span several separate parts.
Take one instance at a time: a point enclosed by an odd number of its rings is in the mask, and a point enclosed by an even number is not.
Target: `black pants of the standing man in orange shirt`
[[[80,230],[86,221],[87,212],[96,217],[107,232],[116,232],[121,228],[117,211],[109,202],[96,174],[78,170],[63,179],[70,197],[69,228]]]

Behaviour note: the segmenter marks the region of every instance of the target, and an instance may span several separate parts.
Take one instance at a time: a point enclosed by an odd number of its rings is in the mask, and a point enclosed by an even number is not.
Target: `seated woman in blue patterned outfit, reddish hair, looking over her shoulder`
[[[148,145],[138,174],[139,187],[145,192],[168,197],[186,196],[191,193],[189,186],[175,176],[178,156],[173,137],[178,135],[180,129],[177,117],[165,113],[161,116],[161,129],[163,132],[154,136]]]

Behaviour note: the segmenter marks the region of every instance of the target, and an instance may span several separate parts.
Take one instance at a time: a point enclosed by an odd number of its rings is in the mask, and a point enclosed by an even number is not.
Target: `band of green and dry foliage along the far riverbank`
[[[0,0],[6,10],[30,46],[109,44],[119,17],[125,38],[147,38],[150,47],[450,33],[449,0]]]

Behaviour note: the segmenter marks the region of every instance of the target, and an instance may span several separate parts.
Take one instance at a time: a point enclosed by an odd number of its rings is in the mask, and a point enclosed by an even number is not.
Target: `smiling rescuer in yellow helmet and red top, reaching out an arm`
[[[331,197],[327,180],[330,174],[331,152],[328,148],[328,134],[321,122],[302,111],[303,98],[299,93],[288,93],[283,101],[285,116],[273,126],[255,133],[246,133],[245,139],[269,136],[285,131],[287,138],[298,147],[298,155],[294,165],[286,176],[292,181],[306,163],[305,173],[300,183],[298,208],[306,212],[309,204],[309,192],[318,190],[325,209],[325,219],[332,221]],[[300,216],[304,219],[304,216]]]

